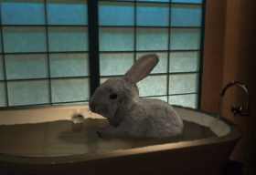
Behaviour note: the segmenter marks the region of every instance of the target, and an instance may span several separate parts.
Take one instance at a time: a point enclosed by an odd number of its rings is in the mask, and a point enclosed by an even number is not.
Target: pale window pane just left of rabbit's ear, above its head
[[[133,65],[133,54],[101,54],[101,76],[124,75]]]

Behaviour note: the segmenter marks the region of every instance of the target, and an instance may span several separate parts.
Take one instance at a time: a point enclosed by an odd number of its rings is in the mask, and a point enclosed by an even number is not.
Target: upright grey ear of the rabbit
[[[158,57],[155,54],[140,57],[133,64],[133,67],[126,72],[124,79],[132,83],[137,83],[146,77],[157,63]]]

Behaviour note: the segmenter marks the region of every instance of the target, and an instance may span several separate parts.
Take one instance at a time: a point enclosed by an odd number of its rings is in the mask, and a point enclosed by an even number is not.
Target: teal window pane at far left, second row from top
[[[4,27],[5,52],[45,52],[45,27]]]

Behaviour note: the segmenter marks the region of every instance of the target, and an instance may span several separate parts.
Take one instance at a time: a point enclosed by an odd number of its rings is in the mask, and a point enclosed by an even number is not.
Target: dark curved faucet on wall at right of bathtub
[[[228,83],[221,90],[221,93],[220,93],[221,99],[220,99],[220,103],[219,103],[219,118],[220,118],[221,113],[222,113],[223,98],[224,98],[227,90],[229,88],[232,88],[232,87],[235,87],[235,86],[241,88],[245,92],[245,94],[247,96],[247,102],[246,102],[245,106],[233,104],[232,107],[231,107],[231,112],[233,113],[234,116],[237,116],[237,115],[239,115],[239,116],[249,116],[249,90],[248,90],[248,87],[245,84],[243,84],[239,81],[232,81],[232,82]]]

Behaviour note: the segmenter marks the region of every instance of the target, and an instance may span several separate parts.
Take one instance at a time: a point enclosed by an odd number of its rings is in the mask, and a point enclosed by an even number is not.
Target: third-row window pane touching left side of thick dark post
[[[81,77],[88,76],[87,54],[51,54],[51,77]]]

